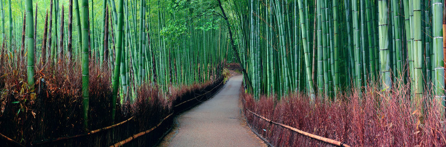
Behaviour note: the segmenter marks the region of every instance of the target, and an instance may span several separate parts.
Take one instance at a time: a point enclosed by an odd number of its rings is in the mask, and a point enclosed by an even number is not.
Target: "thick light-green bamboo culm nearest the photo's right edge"
[[[443,0],[432,1],[432,33],[434,59],[432,68],[434,69],[434,96],[435,100],[440,103],[439,109],[442,116],[445,115],[445,68],[443,67],[444,50],[443,50]]]

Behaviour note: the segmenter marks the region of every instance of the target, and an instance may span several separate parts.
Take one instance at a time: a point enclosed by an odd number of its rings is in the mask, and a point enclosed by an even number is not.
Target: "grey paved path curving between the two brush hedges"
[[[160,146],[265,147],[246,126],[239,103],[242,76],[233,76],[213,98],[176,118]]]

